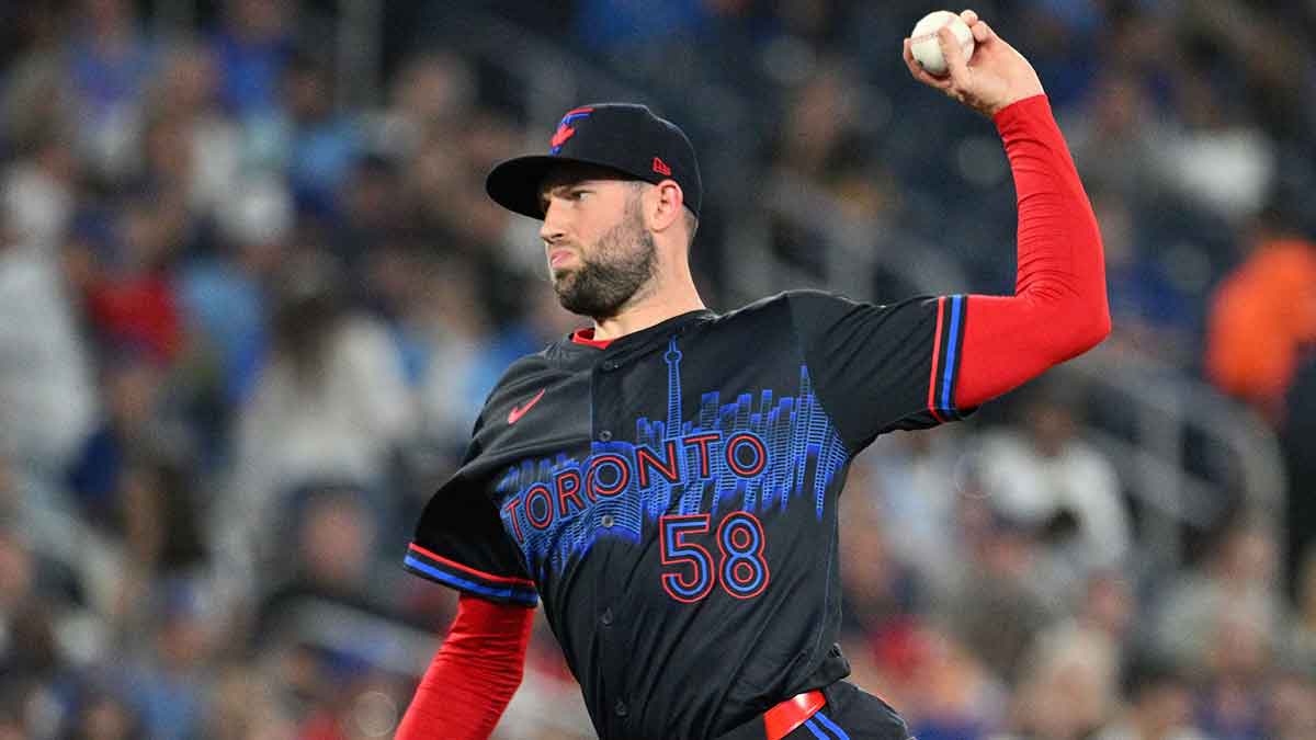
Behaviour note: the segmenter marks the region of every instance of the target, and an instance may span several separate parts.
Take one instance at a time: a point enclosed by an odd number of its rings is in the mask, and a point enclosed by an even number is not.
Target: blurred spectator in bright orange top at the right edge
[[[1224,392],[1283,424],[1284,394],[1316,342],[1316,244],[1271,208],[1252,225],[1245,261],[1211,299],[1205,373]]]

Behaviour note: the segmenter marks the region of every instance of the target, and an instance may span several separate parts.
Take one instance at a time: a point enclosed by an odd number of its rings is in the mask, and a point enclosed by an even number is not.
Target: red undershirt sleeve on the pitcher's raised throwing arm
[[[996,113],[1019,198],[1013,296],[973,295],[955,406],[970,408],[1111,333],[1101,234],[1045,95]]]

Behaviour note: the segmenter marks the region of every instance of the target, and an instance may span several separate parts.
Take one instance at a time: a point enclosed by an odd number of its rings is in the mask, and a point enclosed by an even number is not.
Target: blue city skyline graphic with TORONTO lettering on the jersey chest
[[[584,460],[524,460],[499,478],[503,525],[532,574],[562,573],[599,537],[640,542],[665,514],[741,510],[762,519],[807,506],[821,521],[826,489],[850,453],[808,367],[800,366],[795,395],[755,388],[722,403],[732,388],[712,390],[682,420],[683,357],[672,337],[662,354],[666,419],[636,419],[633,442],[595,441]]]

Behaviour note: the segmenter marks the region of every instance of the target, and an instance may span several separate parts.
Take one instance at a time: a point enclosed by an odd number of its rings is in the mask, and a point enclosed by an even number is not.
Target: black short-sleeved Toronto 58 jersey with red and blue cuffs
[[[966,296],[819,291],[519,359],[411,571],[536,604],[600,737],[713,737],[849,673],[837,496],[878,435],[961,419]]]

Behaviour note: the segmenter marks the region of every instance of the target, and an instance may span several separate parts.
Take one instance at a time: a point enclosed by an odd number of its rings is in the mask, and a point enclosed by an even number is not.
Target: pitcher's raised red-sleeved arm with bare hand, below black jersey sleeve
[[[1019,200],[1015,295],[966,300],[954,406],[971,408],[1091,349],[1111,332],[1096,217],[1032,65],[973,11],[961,17],[976,49],[966,62],[938,34],[949,75],[904,58],[915,79],[996,124]]]

